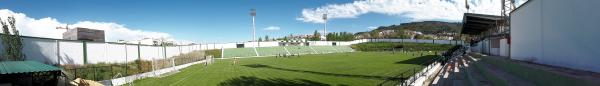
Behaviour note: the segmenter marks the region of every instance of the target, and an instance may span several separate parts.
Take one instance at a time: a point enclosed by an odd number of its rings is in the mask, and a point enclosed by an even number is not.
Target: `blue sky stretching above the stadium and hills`
[[[166,33],[176,40],[193,42],[241,42],[251,40],[251,8],[257,9],[257,35],[281,37],[289,34],[312,34],[323,28],[322,22],[310,14],[330,14],[329,32],[368,31],[368,27],[387,26],[412,21],[460,21],[460,3],[444,2],[453,8],[454,15],[435,12],[438,9],[408,9],[393,3],[350,0],[10,0],[1,1],[0,9],[26,14],[33,19],[51,18],[60,24],[82,21],[115,23],[126,29]],[[451,1],[451,0],[450,0]],[[485,0],[484,0],[485,1]],[[439,4],[440,1],[419,3]],[[381,3],[389,6],[374,7]],[[471,2],[484,3],[485,2]],[[464,3],[462,3],[464,6]],[[369,6],[373,5],[373,6]],[[365,8],[360,8],[365,6]],[[426,5],[425,5],[426,6]],[[448,6],[446,7],[446,10]],[[481,5],[483,8],[483,5]],[[389,9],[388,9],[389,8]],[[400,9],[398,9],[400,8]],[[432,10],[434,12],[423,11]],[[449,10],[453,11],[453,10]],[[486,10],[483,9],[483,13]],[[436,14],[437,13],[437,14]],[[416,15],[416,16],[415,16]],[[424,15],[424,16],[421,16]],[[313,18],[313,20],[311,20]],[[269,26],[279,30],[265,30]],[[34,29],[35,30],[35,29]]]

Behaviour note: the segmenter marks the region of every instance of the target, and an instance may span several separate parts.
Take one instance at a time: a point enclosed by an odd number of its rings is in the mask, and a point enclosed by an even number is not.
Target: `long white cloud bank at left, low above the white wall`
[[[80,21],[75,24],[58,22],[54,18],[46,17],[34,19],[27,17],[24,13],[16,13],[8,9],[0,9],[0,18],[6,21],[8,16],[14,16],[17,29],[24,36],[62,39],[62,33],[66,30],[56,29],[58,26],[69,25],[72,27],[84,27],[90,29],[104,30],[107,41],[117,40],[139,40],[143,38],[165,38],[172,39],[167,33],[134,30],[124,25],[112,22]]]

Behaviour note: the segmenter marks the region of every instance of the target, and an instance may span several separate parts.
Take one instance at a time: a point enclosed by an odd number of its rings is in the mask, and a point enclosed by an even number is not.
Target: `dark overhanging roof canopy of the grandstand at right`
[[[501,23],[501,20],[501,16],[465,13],[463,16],[463,27],[461,33],[468,35],[479,35],[481,32],[490,29],[498,23]]]

